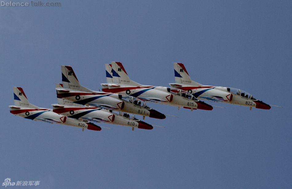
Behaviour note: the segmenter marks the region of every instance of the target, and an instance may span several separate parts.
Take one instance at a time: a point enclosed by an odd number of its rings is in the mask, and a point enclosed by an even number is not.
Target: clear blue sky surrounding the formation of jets
[[[291,1],[60,2],[0,7],[0,183],[8,177],[40,181],[27,188],[292,187]],[[179,118],[146,118],[166,127],[152,130],[100,123],[112,129],[99,132],[10,114],[12,87],[52,108],[60,65],[98,90],[111,61],[123,63],[133,81],[166,87],[175,82],[172,63],[183,63],[198,83],[239,88],[284,108],[207,102],[226,109],[191,112],[148,103]]]

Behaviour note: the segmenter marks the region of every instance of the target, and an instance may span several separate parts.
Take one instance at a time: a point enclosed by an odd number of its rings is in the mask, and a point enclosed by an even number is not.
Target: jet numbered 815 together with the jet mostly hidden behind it
[[[120,62],[105,64],[107,83],[101,84],[102,91],[130,95],[143,101],[191,109],[212,110],[213,107],[199,101],[187,91],[170,87],[141,85],[129,79]]]

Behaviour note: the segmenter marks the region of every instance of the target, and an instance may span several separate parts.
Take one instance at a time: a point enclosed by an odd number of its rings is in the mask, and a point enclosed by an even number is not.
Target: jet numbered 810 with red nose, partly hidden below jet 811
[[[119,114],[116,114],[113,113],[112,110],[83,106],[73,102],[64,101],[64,99],[58,98],[58,104],[52,104],[53,112],[66,116],[67,118],[110,123],[139,129],[153,129],[152,125],[140,121],[134,115],[130,117],[127,113],[122,114],[120,112]]]

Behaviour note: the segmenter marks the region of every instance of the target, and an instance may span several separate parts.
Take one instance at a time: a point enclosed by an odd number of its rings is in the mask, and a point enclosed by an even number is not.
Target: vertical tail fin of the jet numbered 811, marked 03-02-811
[[[70,66],[61,66],[63,87],[67,89],[75,89],[84,92],[93,92],[90,89],[80,85],[73,68]]]

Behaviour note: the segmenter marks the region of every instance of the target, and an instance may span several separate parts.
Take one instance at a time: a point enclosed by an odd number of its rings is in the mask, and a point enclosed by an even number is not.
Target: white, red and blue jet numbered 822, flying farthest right
[[[169,83],[171,87],[188,91],[198,99],[237,104],[241,106],[269,110],[270,105],[255,99],[246,91],[230,88],[201,85],[191,80],[182,63],[173,63],[176,83]]]

